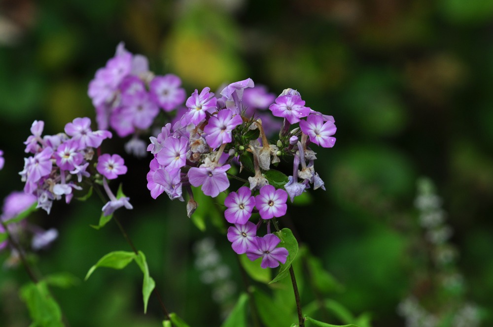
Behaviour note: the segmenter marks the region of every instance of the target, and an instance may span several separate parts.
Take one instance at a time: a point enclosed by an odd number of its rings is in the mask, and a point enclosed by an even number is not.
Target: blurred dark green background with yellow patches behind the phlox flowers
[[[0,0],[0,198],[23,187],[22,142],[34,120],[45,121],[46,134],[75,117],[94,120],[87,85],[120,41],[157,74],[180,76],[188,94],[251,77],[276,94],[297,89],[308,106],[334,116],[335,147],[316,149],[327,191],[293,205],[288,227],[344,286],[330,296],[355,314],[370,312],[373,326],[403,326],[398,303],[427,296],[416,289],[421,268],[410,251],[423,239],[416,181],[430,177],[454,230],[463,296],[493,326],[493,1]],[[109,143],[124,153],[123,141]],[[207,300],[211,286],[200,281],[192,249],[212,237],[239,292],[229,242],[213,226],[199,231],[183,203],[151,199],[150,158],[125,160],[134,210],[117,214],[166,305],[192,326],[218,326],[219,305]],[[39,269],[81,279],[54,290],[72,327],[159,326],[152,297],[142,313],[137,267],[82,281],[107,252],[130,250],[114,224],[89,227],[101,205],[55,203],[50,216],[35,214],[60,232],[39,254]],[[22,267],[1,269],[1,326],[29,325],[17,294],[26,280]]]

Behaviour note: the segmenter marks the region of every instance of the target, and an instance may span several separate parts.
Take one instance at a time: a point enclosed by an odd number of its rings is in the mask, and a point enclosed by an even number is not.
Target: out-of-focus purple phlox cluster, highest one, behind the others
[[[134,134],[127,152],[145,156],[145,144],[139,131],[151,127],[160,108],[169,112],[185,100],[178,76],[154,76],[147,58],[128,52],[123,43],[106,66],[96,71],[89,83],[88,95],[96,108],[99,129],[111,127],[120,137]]]

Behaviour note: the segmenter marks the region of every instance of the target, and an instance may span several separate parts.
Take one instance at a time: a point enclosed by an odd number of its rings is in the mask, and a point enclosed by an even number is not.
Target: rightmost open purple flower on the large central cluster
[[[332,137],[337,130],[334,122],[328,120],[324,123],[322,116],[308,116],[306,121],[300,121],[300,129],[310,136],[310,141],[321,147],[331,148],[336,142],[336,138]]]

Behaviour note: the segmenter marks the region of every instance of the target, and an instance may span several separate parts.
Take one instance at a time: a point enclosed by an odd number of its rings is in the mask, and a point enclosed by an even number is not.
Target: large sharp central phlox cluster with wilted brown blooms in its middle
[[[324,189],[323,181],[315,172],[316,153],[309,144],[332,147],[336,127],[331,116],[325,116],[305,106],[300,94],[287,89],[277,97],[270,97],[265,89],[254,90],[248,78],[226,86],[218,95],[206,87],[195,90],[186,100],[187,109],[176,116],[174,125],[165,125],[156,137],[150,137],[147,151],[154,158],[147,174],[147,188],[156,198],[166,193],[171,199],[183,201],[183,190],[189,196],[187,213],[190,216],[197,203],[191,186],[211,197],[230,188],[228,174],[231,165],[240,163],[240,171],[249,170],[246,186],[231,192],[225,200],[226,220],[234,224],[227,237],[238,254],[246,253],[250,260],[262,258],[262,267],[277,267],[286,262],[288,252],[278,247],[281,240],[270,232],[270,220],[286,213],[286,200],[291,201],[313,185]],[[258,107],[269,107],[273,116],[283,118],[279,124],[279,139],[271,144],[266,130],[272,130],[269,119],[251,116],[244,95],[257,100]],[[274,102],[275,101],[275,102]],[[274,102],[274,103],[273,103]],[[248,113],[250,112],[250,113]],[[253,115],[254,114],[253,112]],[[294,127],[298,124],[299,127]],[[294,127],[294,128],[292,128]],[[271,185],[271,164],[280,158],[293,157],[293,174],[285,176],[277,188]],[[278,175],[279,175],[278,174]],[[270,177],[269,177],[270,176]],[[257,224],[250,221],[258,212]],[[262,223],[267,224],[267,234],[257,236]],[[277,225],[275,225],[277,227]]]

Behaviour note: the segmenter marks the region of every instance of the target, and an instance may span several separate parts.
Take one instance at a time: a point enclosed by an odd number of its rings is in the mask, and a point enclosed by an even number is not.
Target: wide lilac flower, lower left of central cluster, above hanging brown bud
[[[231,168],[230,164],[220,167],[192,167],[188,171],[188,180],[195,187],[202,185],[202,192],[206,196],[216,197],[229,187],[226,171]]]

